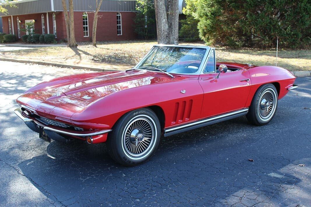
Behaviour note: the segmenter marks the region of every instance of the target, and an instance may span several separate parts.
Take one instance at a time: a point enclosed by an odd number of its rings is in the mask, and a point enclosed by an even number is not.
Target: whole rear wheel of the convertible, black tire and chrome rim
[[[275,115],[278,94],[273,84],[265,84],[258,88],[249,107],[246,118],[254,125],[265,125]]]

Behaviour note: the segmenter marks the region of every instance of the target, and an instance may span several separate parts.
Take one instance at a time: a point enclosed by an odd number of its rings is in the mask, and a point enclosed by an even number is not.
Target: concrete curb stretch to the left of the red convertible
[[[46,65],[46,66],[55,66],[55,67],[64,67],[64,68],[72,68],[72,69],[80,69],[80,70],[90,70],[90,71],[119,71],[111,68],[96,68],[96,67],[85,67],[85,66],[77,66],[77,65],[66,65],[55,62],[45,62],[45,61],[33,61],[33,60],[21,60],[15,58],[0,58],[0,61],[10,61],[10,62],[21,62],[21,63],[32,63],[37,65]]]

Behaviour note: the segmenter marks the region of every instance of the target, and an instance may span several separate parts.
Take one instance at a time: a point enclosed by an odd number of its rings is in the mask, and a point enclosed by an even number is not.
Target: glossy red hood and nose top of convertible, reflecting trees
[[[151,71],[87,73],[56,78],[43,82],[16,99],[39,116],[69,119],[97,99],[134,87],[172,80]],[[65,120],[64,120],[65,121]]]

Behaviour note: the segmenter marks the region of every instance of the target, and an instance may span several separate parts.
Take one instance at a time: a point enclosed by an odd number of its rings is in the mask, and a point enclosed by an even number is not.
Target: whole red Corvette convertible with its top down
[[[106,142],[115,161],[132,166],[161,136],[243,115],[267,124],[294,81],[280,67],[216,62],[215,48],[156,45],[127,71],[40,83],[16,99],[15,113],[46,141]]]

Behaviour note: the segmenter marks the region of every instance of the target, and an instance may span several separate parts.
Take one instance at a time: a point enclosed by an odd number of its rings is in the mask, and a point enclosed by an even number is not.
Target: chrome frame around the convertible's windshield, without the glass
[[[151,50],[145,55],[144,58],[142,58],[141,61],[139,61],[136,66],[134,66],[133,68],[135,68],[136,70],[143,70],[143,71],[152,71],[154,72],[154,70],[148,70],[148,69],[137,69],[137,67],[142,64],[142,62],[144,62],[146,60],[146,58],[148,58],[149,54],[153,51],[154,48],[156,47],[179,47],[179,48],[199,48],[199,49],[205,49],[205,54],[202,58],[201,64],[198,68],[198,70],[195,73],[172,73],[169,72],[170,74],[180,74],[180,75],[200,75],[201,71],[203,69],[203,66],[205,65],[206,59],[209,57],[210,54],[210,50],[211,48],[208,46],[193,46],[193,45],[173,45],[173,44],[156,44],[154,45]],[[163,73],[160,71],[157,71],[159,73]]]

